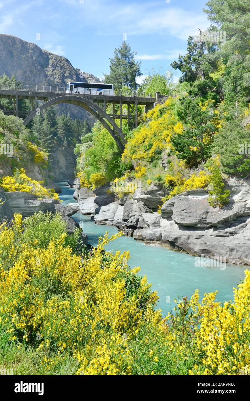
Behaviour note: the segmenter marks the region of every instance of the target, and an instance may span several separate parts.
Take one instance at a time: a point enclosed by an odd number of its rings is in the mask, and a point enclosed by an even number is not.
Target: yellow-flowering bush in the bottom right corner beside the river
[[[196,290],[190,301],[176,301],[175,315],[166,317],[171,349],[177,358],[194,359],[190,375],[250,373],[250,271],[245,274],[244,282],[234,288],[234,302],[216,302],[216,292],[199,302]]]

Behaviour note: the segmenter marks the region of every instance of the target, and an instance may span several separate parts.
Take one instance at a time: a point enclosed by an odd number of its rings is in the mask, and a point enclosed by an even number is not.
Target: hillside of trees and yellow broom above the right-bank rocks
[[[190,36],[188,53],[172,63],[182,73],[177,85],[173,87],[171,75],[167,78],[161,71],[146,77],[140,89],[171,91],[172,97],[147,115],[139,109],[140,125],[135,130],[129,131],[123,120],[127,139],[123,154],[99,123],[82,137],[83,146],[75,152],[83,185],[93,188],[119,178],[140,180],[143,188],[161,184],[167,190],[164,202],[212,184],[210,204],[222,207],[228,202],[223,189],[226,174],[245,177],[250,172],[250,152],[245,150],[250,138],[250,17],[247,2],[240,4],[226,1],[219,8],[216,1],[208,2],[205,12],[217,25],[211,25],[210,32],[218,27],[226,31],[226,42],[202,41],[202,33]],[[123,77],[120,65],[131,54],[130,47],[122,45],[111,60],[111,74],[105,77],[107,81],[116,77],[118,88],[124,87],[129,75]],[[139,76],[138,68],[133,66]],[[131,86],[137,87],[135,80]]]

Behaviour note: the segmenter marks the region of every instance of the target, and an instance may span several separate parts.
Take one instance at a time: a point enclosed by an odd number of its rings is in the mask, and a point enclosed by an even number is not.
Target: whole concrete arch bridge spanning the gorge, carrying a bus
[[[6,86],[6,85],[5,85]],[[26,88],[27,87],[27,88]],[[57,90],[56,90],[57,89]],[[63,91],[62,91],[63,89]],[[93,90],[95,92],[95,90]],[[162,103],[167,96],[160,95],[155,92],[155,97],[143,96],[136,94],[133,96],[123,96],[121,93],[115,95],[98,95],[93,94],[77,94],[65,93],[65,88],[53,88],[37,85],[21,85],[19,88],[8,88],[0,85],[0,99],[7,98],[13,99],[13,111],[3,110],[5,114],[14,114],[17,117],[20,115],[26,116],[23,124],[27,125],[35,115],[40,113],[46,107],[60,104],[69,103],[82,107],[91,113],[101,124],[108,130],[111,136],[121,150],[125,146],[125,137],[122,132],[122,120],[128,119],[129,122],[133,121],[132,128],[137,127],[138,122],[138,105],[145,105],[145,112],[155,107],[156,103]],[[21,111],[18,109],[18,100],[26,99],[31,101],[31,109]],[[44,103],[37,105],[38,100],[43,100]],[[107,104],[113,104],[113,113],[107,113]],[[100,107],[100,104],[103,107]],[[115,113],[115,104],[119,104],[119,113]],[[127,106],[126,113],[123,110],[123,105]],[[119,119],[119,126],[116,124],[115,119]]]

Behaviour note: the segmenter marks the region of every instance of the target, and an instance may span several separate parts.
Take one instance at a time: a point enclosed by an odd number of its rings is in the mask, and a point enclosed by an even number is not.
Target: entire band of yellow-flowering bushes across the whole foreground
[[[41,219],[40,214],[22,223],[15,215],[11,227],[0,226],[6,354],[8,346],[13,357],[14,349],[27,358],[34,350],[38,374],[59,374],[65,365],[77,375],[249,373],[250,271],[234,289],[234,302],[216,302],[216,292],[199,301],[196,290],[162,319],[146,277],[137,275],[139,268],[129,269],[129,253],[105,251],[121,233],[110,239],[106,234],[91,253],[78,255],[65,242],[58,217],[56,223],[42,219],[57,227],[44,243]]]

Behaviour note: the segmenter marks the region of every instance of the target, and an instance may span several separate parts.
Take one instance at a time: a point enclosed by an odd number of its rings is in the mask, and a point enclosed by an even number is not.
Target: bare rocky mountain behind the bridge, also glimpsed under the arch
[[[66,57],[50,53],[16,36],[0,34],[0,55],[0,75],[6,73],[11,77],[14,74],[22,84],[66,86],[69,81],[100,82],[94,75],[74,68]],[[88,118],[93,125],[93,116],[81,107],[64,104],[56,106],[56,111]]]

